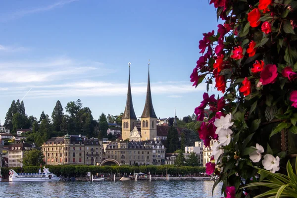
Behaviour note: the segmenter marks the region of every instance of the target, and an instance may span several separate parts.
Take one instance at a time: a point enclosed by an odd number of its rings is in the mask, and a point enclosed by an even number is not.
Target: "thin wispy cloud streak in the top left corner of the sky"
[[[54,8],[57,8],[57,7],[62,7],[65,4],[68,4],[68,3],[71,3],[71,2],[74,2],[74,1],[78,1],[78,0],[59,0],[59,1],[55,2],[55,3],[52,3],[50,5],[46,5],[46,6],[43,6],[43,7],[36,7],[36,8],[32,8],[32,9],[24,9],[24,10],[16,11],[16,12],[7,14],[7,16],[2,16],[0,21],[1,22],[6,22],[6,21],[9,21],[9,20],[21,18],[21,17],[23,17],[25,15],[28,15],[28,14],[34,14],[34,13],[38,13],[38,12],[48,11],[48,10],[51,10],[51,9],[54,9]]]

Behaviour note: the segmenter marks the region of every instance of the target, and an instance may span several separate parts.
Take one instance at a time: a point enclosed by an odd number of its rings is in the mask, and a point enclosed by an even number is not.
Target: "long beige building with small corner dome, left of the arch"
[[[102,160],[101,142],[68,134],[49,139],[42,145],[42,151],[47,165],[94,165]]]

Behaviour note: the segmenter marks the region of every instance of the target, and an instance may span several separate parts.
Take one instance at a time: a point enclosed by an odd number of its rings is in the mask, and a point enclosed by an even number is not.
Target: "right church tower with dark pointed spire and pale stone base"
[[[149,82],[149,60],[148,60],[148,89],[146,104],[141,116],[141,140],[153,140],[157,136],[157,116],[154,112],[151,93],[150,93],[150,82]]]

